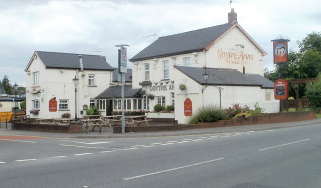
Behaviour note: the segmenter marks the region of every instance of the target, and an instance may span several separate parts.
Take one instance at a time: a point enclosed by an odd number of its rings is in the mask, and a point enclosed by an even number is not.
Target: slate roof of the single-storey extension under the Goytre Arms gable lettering
[[[209,85],[235,85],[235,86],[261,86],[274,88],[274,83],[260,74],[243,74],[236,69],[229,68],[203,68],[191,66],[178,66],[175,68],[195,80],[201,85],[206,84],[203,74],[209,73]]]

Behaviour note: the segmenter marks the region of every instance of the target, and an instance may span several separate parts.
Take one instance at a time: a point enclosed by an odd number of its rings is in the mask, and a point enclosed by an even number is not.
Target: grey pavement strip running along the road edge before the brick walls
[[[57,132],[40,132],[28,130],[12,130],[11,123],[0,123],[1,135],[24,135],[24,136],[39,136],[39,137],[55,137],[55,138],[126,138],[126,137],[155,137],[155,136],[178,136],[178,135],[196,135],[196,134],[214,134],[214,133],[231,133],[244,131],[262,131],[277,128],[287,128],[293,126],[303,126],[309,124],[321,123],[321,118],[292,121],[283,123],[266,123],[254,125],[215,127],[215,128],[198,128],[188,130],[171,130],[171,131],[153,131],[153,132],[126,132],[113,133],[112,127],[103,127],[103,131],[99,134],[98,127],[94,131],[86,131],[84,133],[57,133]],[[164,123],[153,122],[152,125],[159,125]],[[85,130],[85,129],[84,129]]]

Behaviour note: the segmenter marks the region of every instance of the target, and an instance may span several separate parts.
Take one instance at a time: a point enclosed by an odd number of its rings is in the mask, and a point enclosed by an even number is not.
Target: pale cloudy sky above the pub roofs
[[[272,39],[298,50],[297,40],[321,31],[320,0],[0,0],[0,79],[26,86],[36,50],[104,55],[117,67],[116,44],[130,45],[130,59],[158,37],[227,23],[231,7],[269,70]]]

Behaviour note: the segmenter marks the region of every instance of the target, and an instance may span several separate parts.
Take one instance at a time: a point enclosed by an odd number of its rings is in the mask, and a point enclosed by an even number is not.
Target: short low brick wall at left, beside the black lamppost
[[[29,130],[41,132],[59,132],[59,133],[82,133],[81,122],[70,122],[70,124],[39,124],[24,122],[21,119],[12,119],[11,129]]]

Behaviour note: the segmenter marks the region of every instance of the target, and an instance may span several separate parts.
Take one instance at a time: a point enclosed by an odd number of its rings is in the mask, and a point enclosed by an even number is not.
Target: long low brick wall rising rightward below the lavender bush
[[[263,115],[255,115],[249,118],[235,118],[219,120],[217,122],[200,122],[198,124],[175,124],[175,125],[152,125],[152,126],[126,126],[125,132],[148,132],[148,131],[168,131],[168,130],[187,130],[193,128],[213,128],[224,126],[241,126],[251,124],[280,123],[290,121],[301,121],[315,119],[315,111],[294,111],[278,112]],[[121,126],[114,126],[113,133],[121,133]]]

